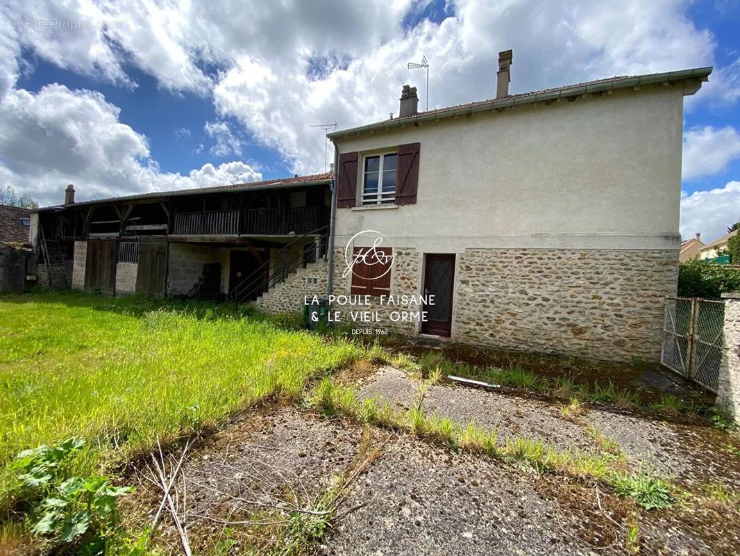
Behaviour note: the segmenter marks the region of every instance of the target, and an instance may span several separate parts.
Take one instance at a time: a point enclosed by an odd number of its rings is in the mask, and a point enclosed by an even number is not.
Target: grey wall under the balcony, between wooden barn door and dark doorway
[[[203,274],[203,265],[221,265],[221,291],[229,288],[229,249],[192,243],[169,244],[167,294],[188,295]]]

